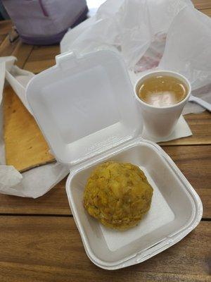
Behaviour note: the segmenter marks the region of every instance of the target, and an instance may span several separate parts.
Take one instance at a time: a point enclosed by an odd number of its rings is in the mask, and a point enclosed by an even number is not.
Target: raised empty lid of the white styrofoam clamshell
[[[27,86],[34,118],[56,159],[75,165],[141,135],[124,61],[115,51],[56,56]]]

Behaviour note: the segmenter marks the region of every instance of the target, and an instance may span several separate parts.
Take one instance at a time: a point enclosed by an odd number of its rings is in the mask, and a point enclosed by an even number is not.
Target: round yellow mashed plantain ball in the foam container
[[[153,188],[138,166],[108,161],[87,180],[84,207],[105,226],[123,231],[139,223],[152,196]]]

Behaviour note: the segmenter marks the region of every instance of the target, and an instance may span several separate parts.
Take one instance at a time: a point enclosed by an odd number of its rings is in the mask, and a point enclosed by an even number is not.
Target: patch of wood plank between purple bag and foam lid
[[[40,73],[55,65],[55,56],[60,54],[59,45],[36,46],[25,63],[25,70]]]

